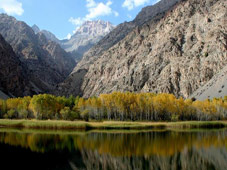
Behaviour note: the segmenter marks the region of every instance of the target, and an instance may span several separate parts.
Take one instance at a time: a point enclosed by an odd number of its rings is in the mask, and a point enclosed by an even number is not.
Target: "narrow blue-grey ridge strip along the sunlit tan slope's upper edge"
[[[91,48],[85,55],[74,71],[82,68],[88,68],[88,65],[99,58],[102,53],[110,47],[117,44],[125,38],[135,27],[143,25],[145,22],[154,19],[157,15],[164,15],[165,12],[171,9],[175,4],[181,0],[162,0],[155,5],[148,6],[142,9],[137,17],[131,22],[124,22],[118,25],[113,31],[101,39],[93,48]]]

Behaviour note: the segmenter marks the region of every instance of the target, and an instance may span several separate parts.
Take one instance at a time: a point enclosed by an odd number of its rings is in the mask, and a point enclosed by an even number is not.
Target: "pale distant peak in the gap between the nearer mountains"
[[[86,21],[69,40],[63,40],[61,46],[67,52],[71,52],[76,60],[80,60],[85,52],[114,28],[110,22]]]

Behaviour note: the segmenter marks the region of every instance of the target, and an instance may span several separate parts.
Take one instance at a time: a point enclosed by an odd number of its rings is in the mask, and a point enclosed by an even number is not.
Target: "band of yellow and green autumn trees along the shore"
[[[198,101],[172,94],[113,92],[88,99],[50,94],[0,100],[1,119],[84,121],[227,120],[227,96]]]

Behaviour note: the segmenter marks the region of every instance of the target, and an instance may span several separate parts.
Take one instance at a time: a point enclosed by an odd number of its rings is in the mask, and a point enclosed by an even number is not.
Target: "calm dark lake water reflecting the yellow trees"
[[[142,132],[0,129],[0,153],[1,170],[227,170],[227,129]]]

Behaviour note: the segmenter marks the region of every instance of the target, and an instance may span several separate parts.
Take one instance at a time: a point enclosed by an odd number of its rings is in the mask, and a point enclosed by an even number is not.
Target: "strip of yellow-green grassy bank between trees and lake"
[[[227,121],[185,121],[185,122],[84,122],[57,120],[8,120],[0,119],[0,127],[31,129],[160,129],[160,128],[224,128]]]

